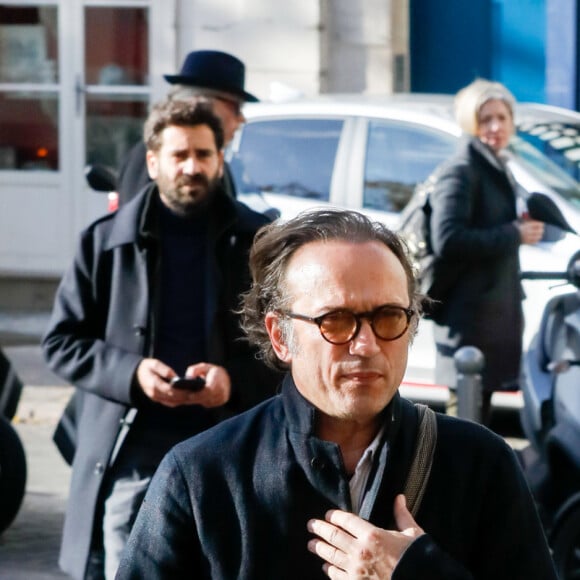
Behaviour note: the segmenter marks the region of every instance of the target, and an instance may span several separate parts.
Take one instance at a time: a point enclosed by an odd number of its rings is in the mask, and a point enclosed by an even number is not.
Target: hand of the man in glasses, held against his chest
[[[308,522],[308,530],[318,536],[308,549],[325,561],[329,578],[390,580],[403,552],[425,533],[402,494],[395,498],[395,521],[399,531],[383,530],[354,514],[331,510],[325,521]]]

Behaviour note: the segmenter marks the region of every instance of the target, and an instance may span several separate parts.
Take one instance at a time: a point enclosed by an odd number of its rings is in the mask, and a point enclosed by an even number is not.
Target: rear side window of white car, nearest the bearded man
[[[248,122],[228,155],[237,191],[328,201],[342,125],[339,119]]]

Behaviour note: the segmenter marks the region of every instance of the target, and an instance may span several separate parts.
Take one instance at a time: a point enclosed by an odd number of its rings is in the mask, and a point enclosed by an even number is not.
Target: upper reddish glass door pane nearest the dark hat
[[[88,85],[149,82],[146,8],[85,10],[85,75]]]

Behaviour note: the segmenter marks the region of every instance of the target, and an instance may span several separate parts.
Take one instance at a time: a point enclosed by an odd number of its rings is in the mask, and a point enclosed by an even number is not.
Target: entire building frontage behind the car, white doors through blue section
[[[260,99],[452,93],[487,76],[518,99],[575,108],[577,11],[575,0],[0,0],[0,285],[58,280],[79,231],[107,211],[86,165],[118,167],[191,50],[240,57]]]

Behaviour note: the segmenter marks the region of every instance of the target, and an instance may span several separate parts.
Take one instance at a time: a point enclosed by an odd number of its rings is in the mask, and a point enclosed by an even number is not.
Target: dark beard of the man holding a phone
[[[192,216],[207,207],[215,192],[220,188],[221,177],[211,179],[203,173],[180,175],[174,183],[165,184],[157,180],[165,204],[177,215]]]

